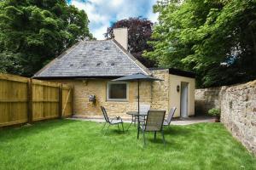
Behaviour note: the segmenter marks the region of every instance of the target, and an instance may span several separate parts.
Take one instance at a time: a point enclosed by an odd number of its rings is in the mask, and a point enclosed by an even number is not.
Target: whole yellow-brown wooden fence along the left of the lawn
[[[0,127],[72,115],[73,88],[0,73]]]

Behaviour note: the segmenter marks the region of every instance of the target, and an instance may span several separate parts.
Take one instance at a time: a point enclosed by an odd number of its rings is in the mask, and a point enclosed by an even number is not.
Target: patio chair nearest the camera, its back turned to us
[[[143,132],[144,145],[146,144],[145,132],[154,132],[154,139],[156,138],[156,133],[160,132],[162,134],[163,143],[166,145],[165,135],[163,131],[163,122],[165,116],[166,111],[148,111],[146,122],[142,123],[142,126],[140,127]]]

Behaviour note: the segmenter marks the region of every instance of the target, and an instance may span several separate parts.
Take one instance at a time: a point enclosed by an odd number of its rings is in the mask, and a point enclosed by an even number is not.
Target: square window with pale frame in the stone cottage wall
[[[107,99],[112,101],[127,101],[128,83],[108,82]]]

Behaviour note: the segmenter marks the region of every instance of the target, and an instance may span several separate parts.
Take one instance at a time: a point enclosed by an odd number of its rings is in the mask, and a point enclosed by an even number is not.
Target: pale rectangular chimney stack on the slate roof
[[[113,29],[114,40],[128,50],[128,28],[114,28]]]

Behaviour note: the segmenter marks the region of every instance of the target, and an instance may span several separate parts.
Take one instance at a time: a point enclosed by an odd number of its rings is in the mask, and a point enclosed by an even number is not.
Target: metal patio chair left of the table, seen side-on
[[[108,116],[107,111],[106,111],[106,109],[103,106],[101,106],[101,109],[102,109],[102,113],[103,113],[104,119],[106,121],[104,126],[102,127],[102,130],[104,129],[106,124],[108,124],[107,130],[105,131],[104,135],[108,132],[108,128],[110,127],[110,125],[118,125],[118,127],[119,127],[119,124],[121,124],[122,128],[123,128],[123,132],[125,132],[124,131],[123,120],[122,120],[121,117],[119,117],[119,116]]]

